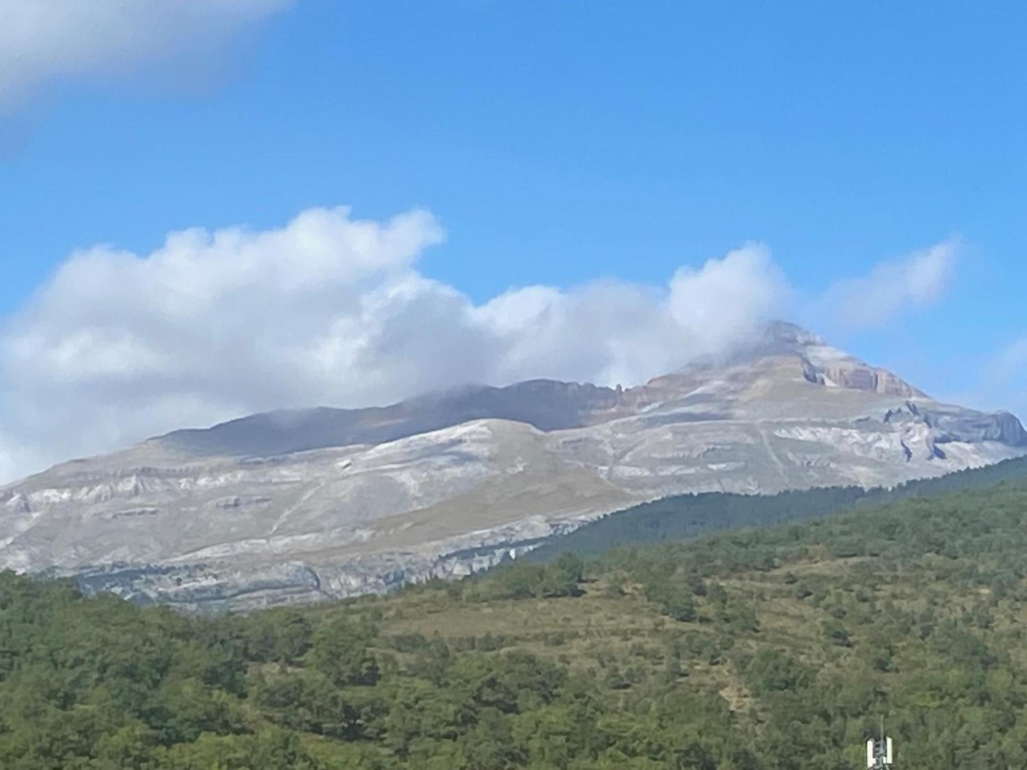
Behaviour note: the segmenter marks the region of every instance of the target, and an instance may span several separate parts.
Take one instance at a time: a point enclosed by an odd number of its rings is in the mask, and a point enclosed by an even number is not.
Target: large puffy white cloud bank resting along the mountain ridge
[[[263,232],[172,233],[146,256],[71,255],[0,333],[0,474],[286,407],[533,377],[630,385],[730,347],[787,294],[748,244],[665,286],[527,286],[474,305],[417,270],[442,238],[425,211],[318,208]]]

